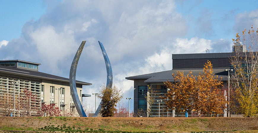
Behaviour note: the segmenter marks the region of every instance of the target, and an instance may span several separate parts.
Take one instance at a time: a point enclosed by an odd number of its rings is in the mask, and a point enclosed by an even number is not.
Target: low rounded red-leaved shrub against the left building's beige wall
[[[61,116],[60,109],[53,103],[49,105],[43,103],[37,114],[39,116]]]

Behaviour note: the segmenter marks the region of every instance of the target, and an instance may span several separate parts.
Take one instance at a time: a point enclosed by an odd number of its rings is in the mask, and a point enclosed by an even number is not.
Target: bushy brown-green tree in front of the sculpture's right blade
[[[102,99],[102,117],[114,116],[114,111],[117,110],[115,107],[123,97],[122,90],[118,89],[116,86],[112,88],[102,86],[99,93],[98,98]]]

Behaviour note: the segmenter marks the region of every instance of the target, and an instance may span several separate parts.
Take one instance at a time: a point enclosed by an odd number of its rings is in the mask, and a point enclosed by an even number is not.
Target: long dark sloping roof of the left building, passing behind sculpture
[[[8,74],[22,75],[22,76],[27,76],[27,77],[35,77],[35,78],[40,78],[40,79],[69,82],[68,78],[59,77],[59,76],[46,74],[43,72],[38,72],[38,71],[33,71],[33,70],[19,69],[16,67],[0,66],[0,73],[8,73]],[[76,80],[76,83],[80,84],[80,85],[92,85],[91,83],[77,81],[77,80]]]

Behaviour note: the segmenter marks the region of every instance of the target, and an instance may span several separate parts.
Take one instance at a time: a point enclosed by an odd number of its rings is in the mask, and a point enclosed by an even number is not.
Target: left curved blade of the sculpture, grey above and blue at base
[[[86,41],[82,41],[80,47],[78,48],[78,50],[77,50],[77,52],[74,56],[74,60],[73,60],[72,65],[71,65],[70,76],[69,76],[71,96],[72,96],[73,101],[74,101],[74,106],[76,107],[77,112],[79,113],[80,117],[87,117],[87,116],[86,116],[86,114],[85,114],[85,112],[82,108],[82,104],[80,102],[80,99],[79,99],[79,96],[78,96],[78,93],[77,93],[75,77],[76,77],[77,64],[78,64],[78,61],[79,61],[79,58],[81,56],[82,49],[83,49],[85,43],[86,43]]]

